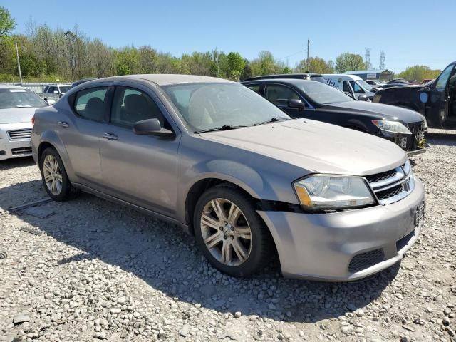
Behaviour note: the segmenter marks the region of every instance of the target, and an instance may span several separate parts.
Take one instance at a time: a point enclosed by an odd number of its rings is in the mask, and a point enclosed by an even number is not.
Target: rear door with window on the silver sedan
[[[78,177],[76,182],[95,189],[102,180],[99,141],[108,107],[108,87],[81,90],[76,93],[74,114],[61,118],[56,126]]]

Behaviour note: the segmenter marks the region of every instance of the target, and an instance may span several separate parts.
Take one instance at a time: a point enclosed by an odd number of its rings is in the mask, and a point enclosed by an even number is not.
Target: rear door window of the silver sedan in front
[[[79,91],[74,101],[74,110],[82,118],[103,121],[107,92],[108,87],[89,88]]]

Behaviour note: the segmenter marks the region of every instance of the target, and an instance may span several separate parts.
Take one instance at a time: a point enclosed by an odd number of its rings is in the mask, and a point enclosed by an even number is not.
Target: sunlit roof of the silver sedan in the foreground
[[[115,81],[117,79],[133,79],[150,81],[157,86],[168,86],[170,84],[180,83],[235,83],[233,81],[224,80],[223,78],[197,76],[197,75],[177,75],[177,74],[139,74],[139,75],[126,75],[126,76],[112,76],[107,78],[98,78],[97,81]]]

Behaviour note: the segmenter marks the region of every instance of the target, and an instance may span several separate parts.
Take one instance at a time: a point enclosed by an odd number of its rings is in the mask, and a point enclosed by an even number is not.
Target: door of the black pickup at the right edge
[[[427,103],[425,103],[425,116],[431,127],[442,127],[448,117],[448,104],[450,102],[448,81],[454,69],[455,64],[447,66],[430,88]]]

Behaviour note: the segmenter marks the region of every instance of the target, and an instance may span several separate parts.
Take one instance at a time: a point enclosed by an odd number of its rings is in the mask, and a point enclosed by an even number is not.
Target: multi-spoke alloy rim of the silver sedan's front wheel
[[[239,266],[252,252],[252,230],[244,213],[228,199],[208,202],[201,214],[201,232],[212,256],[227,266]]]

